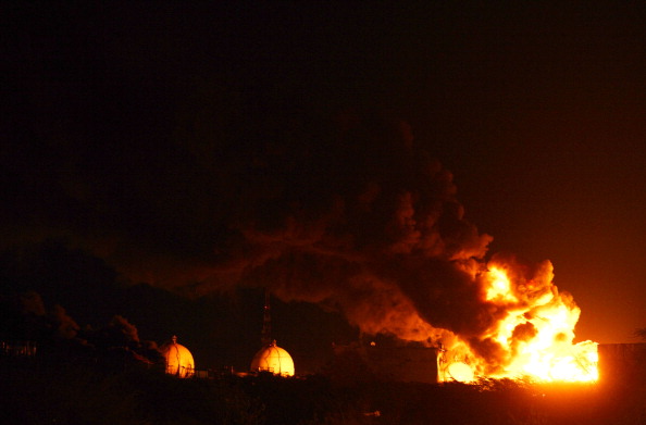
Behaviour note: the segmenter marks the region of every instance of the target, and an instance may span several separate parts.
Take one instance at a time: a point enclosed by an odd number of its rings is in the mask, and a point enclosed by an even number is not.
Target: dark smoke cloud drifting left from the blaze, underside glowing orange
[[[370,334],[469,337],[495,320],[474,285],[492,238],[464,218],[451,173],[406,124],[347,111],[248,128],[222,114],[226,102],[188,111],[171,140],[45,139],[57,161],[14,167],[14,222],[89,247],[135,282],[268,287]]]

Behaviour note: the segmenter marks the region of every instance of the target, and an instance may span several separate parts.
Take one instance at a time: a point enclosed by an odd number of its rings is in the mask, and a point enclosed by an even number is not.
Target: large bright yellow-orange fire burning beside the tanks
[[[440,377],[530,378],[541,382],[594,382],[598,378],[597,343],[573,343],[580,308],[552,283],[543,263],[526,279],[517,265],[492,262],[477,280],[492,311],[500,312],[483,336],[456,341],[440,359]],[[487,355],[495,351],[496,355]],[[497,364],[492,364],[495,358]]]

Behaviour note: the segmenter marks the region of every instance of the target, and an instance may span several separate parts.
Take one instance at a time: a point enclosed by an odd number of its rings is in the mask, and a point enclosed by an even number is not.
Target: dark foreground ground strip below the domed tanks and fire
[[[646,424],[644,383],[222,376],[0,359],[3,424]]]

